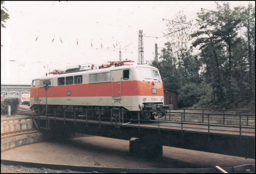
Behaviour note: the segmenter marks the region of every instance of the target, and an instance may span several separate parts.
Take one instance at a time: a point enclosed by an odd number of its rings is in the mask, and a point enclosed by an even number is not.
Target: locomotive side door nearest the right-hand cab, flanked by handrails
[[[122,72],[122,70],[111,71],[112,103],[121,103],[122,101]]]

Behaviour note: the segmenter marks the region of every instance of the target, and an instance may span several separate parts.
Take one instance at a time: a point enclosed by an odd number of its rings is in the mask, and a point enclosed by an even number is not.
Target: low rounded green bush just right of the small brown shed
[[[198,88],[196,83],[189,83],[182,86],[179,90],[178,102],[180,107],[187,107],[196,104],[203,90]]]

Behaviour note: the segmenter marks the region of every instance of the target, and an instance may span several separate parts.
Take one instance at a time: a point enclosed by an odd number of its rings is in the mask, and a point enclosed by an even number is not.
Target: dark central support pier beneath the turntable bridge
[[[157,157],[163,155],[163,145],[149,138],[130,140],[130,153],[140,157]]]

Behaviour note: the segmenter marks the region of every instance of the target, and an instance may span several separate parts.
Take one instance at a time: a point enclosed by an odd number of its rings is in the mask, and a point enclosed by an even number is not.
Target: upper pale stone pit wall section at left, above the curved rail
[[[1,133],[36,128],[32,118],[1,120]]]

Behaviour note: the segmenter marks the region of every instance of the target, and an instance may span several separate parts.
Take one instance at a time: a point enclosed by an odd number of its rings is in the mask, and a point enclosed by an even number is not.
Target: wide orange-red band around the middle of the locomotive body
[[[119,85],[114,82],[114,85]],[[157,90],[156,94],[152,94],[152,88]],[[35,97],[36,88],[31,88],[31,98]],[[38,90],[38,88],[37,88]],[[36,92],[37,92],[36,90]],[[67,91],[71,91],[71,95],[67,95]],[[153,85],[151,82],[141,81],[125,81],[122,82],[122,96],[163,96],[163,83],[158,82]],[[46,96],[44,87],[39,88],[39,98]],[[115,94],[114,94],[115,95]],[[112,96],[112,82],[109,83],[92,83],[92,84],[76,84],[53,86],[48,90],[48,97],[107,97]]]

